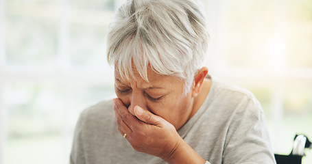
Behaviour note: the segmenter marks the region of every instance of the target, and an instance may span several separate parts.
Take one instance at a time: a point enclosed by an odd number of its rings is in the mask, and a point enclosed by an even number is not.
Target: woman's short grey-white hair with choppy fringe
[[[206,58],[209,34],[194,0],[128,0],[108,28],[108,63],[122,78],[132,66],[147,79],[147,67],[180,77],[187,94]],[[133,64],[133,65],[132,65]]]

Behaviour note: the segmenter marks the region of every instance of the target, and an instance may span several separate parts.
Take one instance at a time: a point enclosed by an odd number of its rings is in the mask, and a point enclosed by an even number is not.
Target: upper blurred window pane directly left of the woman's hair
[[[71,3],[70,57],[75,67],[107,65],[106,31],[114,12],[114,1]]]

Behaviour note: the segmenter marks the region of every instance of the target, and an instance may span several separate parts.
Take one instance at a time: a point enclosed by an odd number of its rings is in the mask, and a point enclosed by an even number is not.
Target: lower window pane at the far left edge
[[[6,163],[61,163],[64,154],[60,135],[64,120],[61,92],[56,86],[38,83],[5,86]]]

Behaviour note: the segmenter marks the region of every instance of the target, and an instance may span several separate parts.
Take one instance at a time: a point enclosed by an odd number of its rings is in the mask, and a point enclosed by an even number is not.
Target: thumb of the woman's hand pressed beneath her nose
[[[154,115],[150,111],[147,111],[138,105],[134,107],[134,114],[136,115],[136,118],[139,118],[139,120],[147,123],[147,124],[153,124],[153,125],[160,125],[160,118],[158,115]]]

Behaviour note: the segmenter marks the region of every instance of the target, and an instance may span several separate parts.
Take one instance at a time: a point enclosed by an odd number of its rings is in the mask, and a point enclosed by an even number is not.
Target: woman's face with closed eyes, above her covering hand
[[[115,71],[115,92],[128,111],[134,115],[134,107],[139,105],[173,124],[178,130],[189,120],[193,109],[191,92],[183,93],[184,81],[178,77],[157,74],[147,70],[149,82],[143,80],[134,70],[130,81],[122,79]]]

